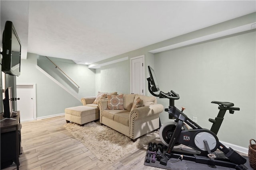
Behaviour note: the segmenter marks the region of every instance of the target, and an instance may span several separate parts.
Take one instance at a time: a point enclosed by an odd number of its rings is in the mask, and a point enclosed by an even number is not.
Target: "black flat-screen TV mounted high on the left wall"
[[[19,76],[21,45],[12,21],[5,23],[2,48],[2,72]]]

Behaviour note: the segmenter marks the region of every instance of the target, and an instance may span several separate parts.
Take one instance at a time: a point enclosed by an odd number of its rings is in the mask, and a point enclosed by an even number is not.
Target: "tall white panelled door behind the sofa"
[[[131,93],[144,95],[144,55],[131,60]]]

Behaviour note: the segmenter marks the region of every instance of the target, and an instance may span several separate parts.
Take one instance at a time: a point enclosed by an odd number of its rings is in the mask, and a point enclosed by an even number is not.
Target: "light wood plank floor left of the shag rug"
[[[64,116],[22,123],[20,170],[161,169],[144,166],[146,146],[113,164],[104,164],[63,127],[65,123]],[[4,170],[15,169],[12,164]]]

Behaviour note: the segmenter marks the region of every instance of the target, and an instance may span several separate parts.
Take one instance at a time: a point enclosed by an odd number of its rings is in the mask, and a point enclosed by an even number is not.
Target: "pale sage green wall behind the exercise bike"
[[[160,90],[180,95],[176,107],[210,128],[218,113],[212,101],[232,102],[240,111],[226,113],[218,132],[220,141],[248,147],[256,138],[256,32],[226,37],[155,54],[154,70]],[[168,106],[167,99],[158,103]],[[161,113],[162,123],[168,115]]]

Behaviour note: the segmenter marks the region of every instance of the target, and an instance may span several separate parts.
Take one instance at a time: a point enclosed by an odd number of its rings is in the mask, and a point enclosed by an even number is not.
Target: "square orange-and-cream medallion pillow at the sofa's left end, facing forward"
[[[123,110],[123,100],[124,100],[124,94],[120,95],[107,95],[108,98],[108,109],[109,110]]]

